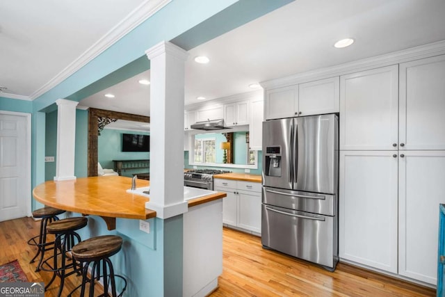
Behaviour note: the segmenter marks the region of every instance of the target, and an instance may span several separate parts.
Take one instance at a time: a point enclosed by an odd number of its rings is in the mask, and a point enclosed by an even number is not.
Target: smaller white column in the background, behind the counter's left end
[[[76,179],[74,152],[76,143],[76,105],[67,99],[57,99],[57,154],[54,180]]]

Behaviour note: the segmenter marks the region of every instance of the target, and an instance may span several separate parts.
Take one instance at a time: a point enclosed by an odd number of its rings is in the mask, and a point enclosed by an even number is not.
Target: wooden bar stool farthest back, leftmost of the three
[[[40,233],[37,236],[29,239],[28,244],[30,246],[37,246],[37,252],[35,256],[29,263],[33,263],[34,260],[40,255],[40,260],[35,267],[35,271],[40,271],[40,266],[42,265],[42,259],[44,252],[47,250],[52,250],[54,248],[54,241],[47,242],[47,225],[48,223],[58,220],[58,215],[63,214],[65,211],[62,209],[55,209],[53,207],[43,207],[40,209],[35,209],[33,211],[33,218],[42,218],[40,220]]]

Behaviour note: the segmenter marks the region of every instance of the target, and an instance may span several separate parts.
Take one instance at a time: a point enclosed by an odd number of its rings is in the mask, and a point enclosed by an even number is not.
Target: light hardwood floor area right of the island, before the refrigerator
[[[261,247],[261,239],[224,228],[219,296],[435,296],[419,287],[364,269],[323,268]]]

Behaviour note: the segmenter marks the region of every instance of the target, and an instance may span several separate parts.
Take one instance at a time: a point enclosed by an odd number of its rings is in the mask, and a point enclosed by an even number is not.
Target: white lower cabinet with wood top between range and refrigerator
[[[233,179],[214,179],[213,190],[223,198],[223,223],[255,234],[261,233],[261,184]]]

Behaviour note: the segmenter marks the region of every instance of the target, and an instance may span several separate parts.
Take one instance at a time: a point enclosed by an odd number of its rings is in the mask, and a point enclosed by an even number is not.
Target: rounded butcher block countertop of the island
[[[136,187],[149,186],[149,181],[138,179]],[[49,207],[84,215],[101,216],[108,230],[115,229],[115,218],[146,220],[155,218],[156,211],[145,208],[149,198],[127,193],[131,177],[82,177],[67,181],[48,181],[33,189],[33,197]],[[216,193],[188,201],[188,207],[225,197]]]

